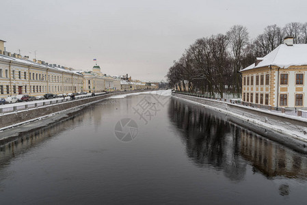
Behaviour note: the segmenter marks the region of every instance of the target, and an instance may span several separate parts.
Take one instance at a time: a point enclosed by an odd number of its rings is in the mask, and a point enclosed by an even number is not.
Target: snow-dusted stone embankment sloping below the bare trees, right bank
[[[224,120],[263,135],[298,152],[307,153],[307,119],[263,109],[183,94],[172,96],[215,111]]]

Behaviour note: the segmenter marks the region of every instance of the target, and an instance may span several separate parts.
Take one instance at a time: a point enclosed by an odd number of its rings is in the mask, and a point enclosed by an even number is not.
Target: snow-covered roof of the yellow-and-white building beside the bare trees
[[[241,71],[265,66],[278,66],[280,68],[304,66],[307,65],[307,44],[293,44],[293,46],[280,44],[276,49],[271,51],[271,53],[265,55],[265,57],[257,59],[262,59],[257,66],[252,64]]]

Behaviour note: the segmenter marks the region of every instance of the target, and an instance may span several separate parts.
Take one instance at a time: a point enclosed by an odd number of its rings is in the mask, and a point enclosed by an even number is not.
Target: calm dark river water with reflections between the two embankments
[[[170,96],[113,98],[0,150],[1,204],[306,204],[307,157]]]

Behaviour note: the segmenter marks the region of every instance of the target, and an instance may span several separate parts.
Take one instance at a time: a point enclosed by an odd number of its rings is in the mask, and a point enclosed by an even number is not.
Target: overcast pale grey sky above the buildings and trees
[[[129,73],[161,81],[173,61],[197,38],[248,28],[250,38],[267,25],[307,21],[307,1],[78,1],[1,0],[0,39],[6,50],[49,63]]]

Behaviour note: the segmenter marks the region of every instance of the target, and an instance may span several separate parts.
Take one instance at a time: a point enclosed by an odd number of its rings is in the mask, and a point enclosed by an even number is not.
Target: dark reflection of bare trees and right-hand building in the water
[[[267,178],[306,178],[306,155],[223,120],[223,115],[172,98],[170,120],[182,131],[187,156],[198,166],[220,169],[230,180],[243,180],[246,165]],[[219,115],[219,116],[217,116]],[[286,195],[286,187],[280,192]]]

